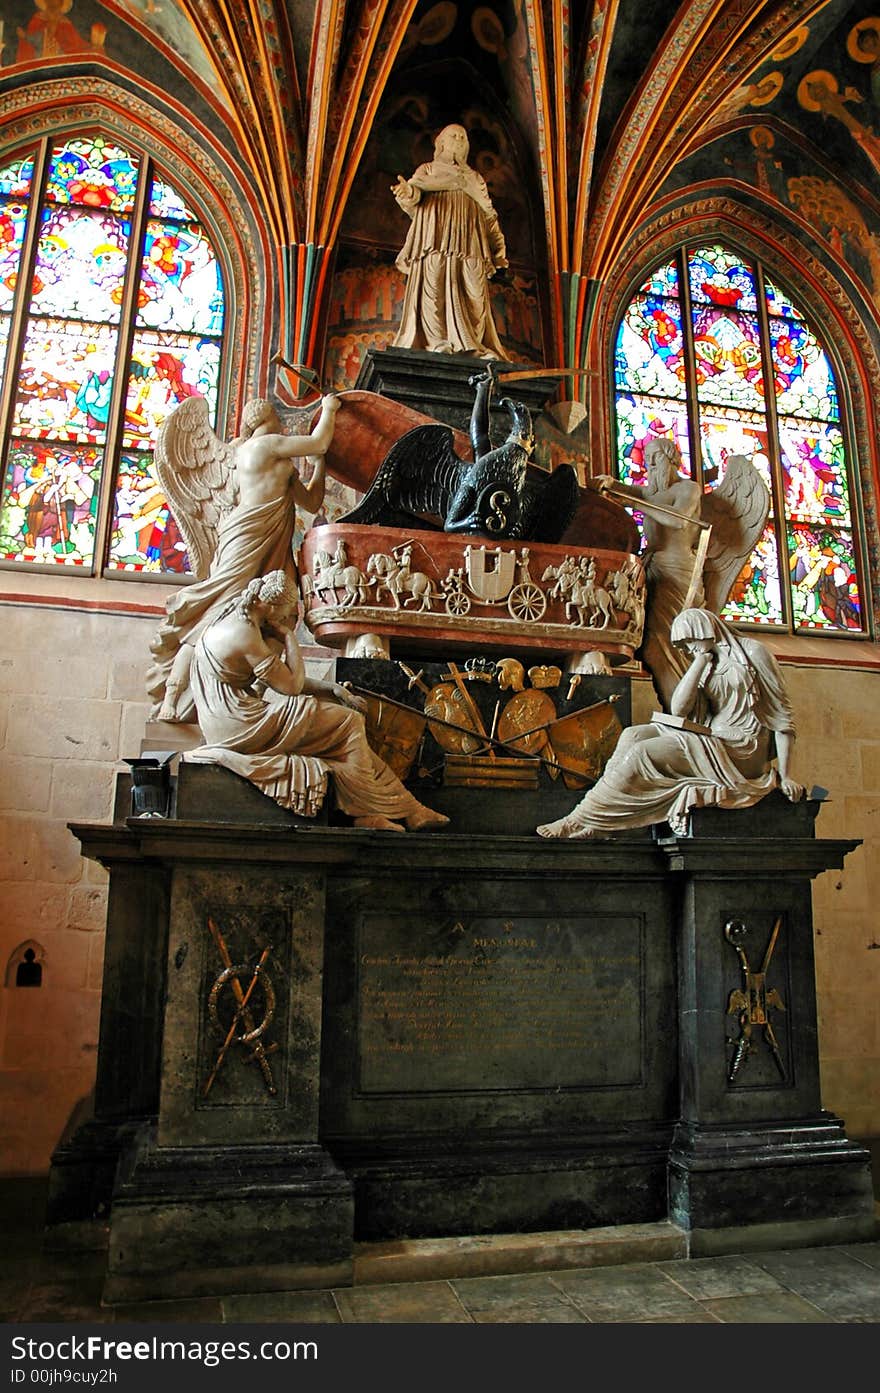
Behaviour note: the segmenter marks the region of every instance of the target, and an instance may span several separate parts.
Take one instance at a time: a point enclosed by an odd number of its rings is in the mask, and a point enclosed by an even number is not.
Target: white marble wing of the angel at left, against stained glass
[[[205,397],[187,397],[163,422],[155,460],[189,564],[202,581],[217,550],[217,528],[237,503],[233,446],[212,430]]]

